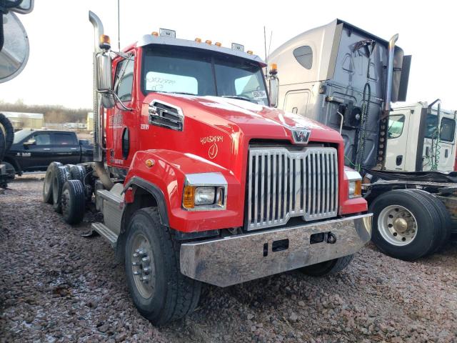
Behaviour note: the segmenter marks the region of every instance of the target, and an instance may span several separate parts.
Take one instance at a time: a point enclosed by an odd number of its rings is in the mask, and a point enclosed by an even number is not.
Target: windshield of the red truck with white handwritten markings
[[[227,96],[268,106],[261,66],[241,57],[181,46],[144,50],[142,87],[151,91]]]

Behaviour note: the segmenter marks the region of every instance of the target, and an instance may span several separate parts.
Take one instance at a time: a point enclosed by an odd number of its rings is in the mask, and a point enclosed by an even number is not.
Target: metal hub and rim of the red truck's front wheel
[[[151,244],[143,234],[138,234],[132,244],[131,269],[136,289],[141,297],[148,299],[154,294],[156,273]]]

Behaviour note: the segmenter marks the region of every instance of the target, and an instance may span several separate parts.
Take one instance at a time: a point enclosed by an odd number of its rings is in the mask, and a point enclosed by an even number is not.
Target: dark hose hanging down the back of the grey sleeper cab
[[[363,41],[358,41],[354,46],[354,52],[359,49],[365,48],[368,55],[368,66],[366,71],[366,84],[363,86],[363,98],[361,106],[361,122],[358,129],[358,139],[357,139],[357,150],[356,150],[356,160],[355,168],[358,172],[361,172],[363,164],[363,155],[365,154],[366,147],[366,124],[368,121],[368,114],[370,111],[370,101],[371,101],[371,84],[370,84],[370,64],[371,64],[371,55],[376,46],[376,41],[373,39],[364,39]],[[371,49],[370,49],[371,47]]]

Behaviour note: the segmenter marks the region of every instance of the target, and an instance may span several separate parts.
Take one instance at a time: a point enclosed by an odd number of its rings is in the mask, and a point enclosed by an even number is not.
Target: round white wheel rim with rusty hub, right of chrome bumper
[[[378,216],[378,232],[389,244],[397,247],[411,244],[417,231],[416,217],[406,207],[389,205]]]

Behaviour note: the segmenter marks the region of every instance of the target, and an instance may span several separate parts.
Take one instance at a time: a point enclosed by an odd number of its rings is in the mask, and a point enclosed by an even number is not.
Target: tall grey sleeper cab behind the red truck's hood
[[[411,64],[397,38],[340,19],[293,37],[268,56],[278,69],[273,102],[340,131],[348,166],[382,168],[391,101],[406,99]]]

